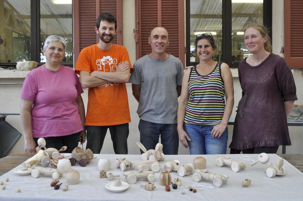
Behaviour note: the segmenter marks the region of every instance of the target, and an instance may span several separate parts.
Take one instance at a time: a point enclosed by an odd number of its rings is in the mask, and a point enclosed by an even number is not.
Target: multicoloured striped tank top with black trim
[[[185,123],[220,124],[225,108],[221,64],[222,62],[218,62],[214,70],[205,76],[198,73],[196,66],[191,68],[188,79],[189,100],[185,108]]]

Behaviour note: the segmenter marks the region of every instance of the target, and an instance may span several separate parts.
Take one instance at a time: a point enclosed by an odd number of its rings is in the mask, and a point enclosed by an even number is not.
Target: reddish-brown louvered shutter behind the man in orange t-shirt
[[[103,12],[110,12],[117,18],[117,35],[112,43],[123,44],[122,0],[74,0],[74,64],[77,62],[78,55],[83,48],[99,42],[95,26],[97,17]]]

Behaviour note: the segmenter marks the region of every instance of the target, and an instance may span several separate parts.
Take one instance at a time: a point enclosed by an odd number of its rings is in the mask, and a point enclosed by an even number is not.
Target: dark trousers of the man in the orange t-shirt
[[[86,128],[86,149],[93,153],[100,153],[107,129],[111,134],[115,154],[127,154],[127,138],[129,134],[128,123],[112,126],[85,126]]]

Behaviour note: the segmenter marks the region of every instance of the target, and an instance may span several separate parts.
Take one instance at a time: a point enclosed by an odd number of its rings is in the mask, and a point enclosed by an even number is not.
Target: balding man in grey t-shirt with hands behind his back
[[[163,153],[178,154],[177,109],[183,65],[178,58],[165,53],[169,44],[165,28],[152,29],[148,42],[151,53],[135,62],[129,79],[133,95],[139,102],[140,142],[147,150],[155,149],[161,137]]]

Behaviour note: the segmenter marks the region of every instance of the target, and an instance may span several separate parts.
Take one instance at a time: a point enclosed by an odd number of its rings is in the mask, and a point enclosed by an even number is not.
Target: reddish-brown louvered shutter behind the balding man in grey
[[[184,1],[136,0],[136,59],[151,53],[148,35],[157,26],[169,33],[166,53],[179,58],[185,66]]]

